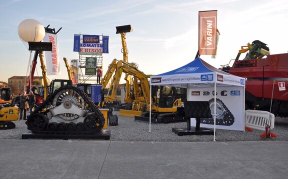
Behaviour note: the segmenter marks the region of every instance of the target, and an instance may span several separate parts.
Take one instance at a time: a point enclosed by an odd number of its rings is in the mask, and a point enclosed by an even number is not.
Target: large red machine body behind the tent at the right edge
[[[260,59],[235,60],[231,67],[226,67],[226,71],[246,78],[246,109],[269,111],[272,98],[271,112],[278,116],[288,116],[288,53],[270,54]],[[279,90],[278,82],[284,82],[287,89]]]

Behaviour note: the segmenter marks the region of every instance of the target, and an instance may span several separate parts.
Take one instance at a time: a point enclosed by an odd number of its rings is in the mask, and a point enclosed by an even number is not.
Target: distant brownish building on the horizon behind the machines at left
[[[42,76],[34,76],[32,85],[43,85]],[[26,82],[26,84],[25,84]],[[8,87],[11,87],[12,93],[15,95],[21,94],[28,83],[27,76],[12,76],[8,78]]]

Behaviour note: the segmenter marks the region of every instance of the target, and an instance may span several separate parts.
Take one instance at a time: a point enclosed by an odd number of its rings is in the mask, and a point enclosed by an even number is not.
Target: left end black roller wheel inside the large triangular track
[[[32,131],[40,131],[45,129],[48,125],[48,118],[43,113],[34,113],[29,116],[26,124]]]

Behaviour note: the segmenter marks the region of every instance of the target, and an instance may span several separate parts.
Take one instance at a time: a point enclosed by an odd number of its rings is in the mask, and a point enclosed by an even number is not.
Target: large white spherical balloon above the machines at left
[[[18,35],[26,42],[41,41],[45,36],[45,28],[35,19],[25,19],[18,25]]]

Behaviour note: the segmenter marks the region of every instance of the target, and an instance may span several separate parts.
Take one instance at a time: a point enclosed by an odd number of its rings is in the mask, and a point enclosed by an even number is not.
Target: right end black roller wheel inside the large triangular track
[[[104,126],[104,122],[101,122],[99,117],[95,114],[88,114],[83,121],[85,129],[90,132],[101,131]]]

